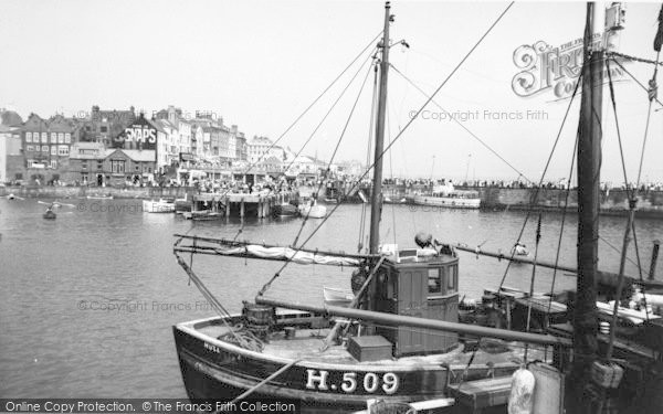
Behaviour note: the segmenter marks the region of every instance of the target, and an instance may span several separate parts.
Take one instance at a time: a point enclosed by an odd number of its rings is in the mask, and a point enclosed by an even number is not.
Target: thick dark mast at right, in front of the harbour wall
[[[587,3],[582,102],[578,139],[578,280],[573,312],[573,389],[580,404],[589,370],[597,354],[597,263],[599,243],[599,195],[601,159],[601,118],[603,99],[603,45],[592,45],[592,34],[604,29],[604,6]],[[602,38],[601,38],[602,39]]]

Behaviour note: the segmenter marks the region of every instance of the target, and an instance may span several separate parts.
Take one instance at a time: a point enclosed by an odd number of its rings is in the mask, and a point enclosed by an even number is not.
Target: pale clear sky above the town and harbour
[[[379,1],[1,0],[0,4],[0,108],[23,117],[30,113],[49,117],[54,113],[85,116],[93,105],[135,106],[147,114],[175,105],[185,114],[222,117],[248,137],[272,139],[281,137],[371,44],[383,21]],[[391,41],[406,40],[410,47],[390,49],[398,72],[389,72],[387,139],[400,136],[386,156],[386,177],[513,180],[523,173],[533,181],[540,179],[570,99],[559,99],[551,88],[518,96],[512,83],[524,70],[514,63],[514,53],[539,41],[558,47],[580,39],[586,3],[516,2],[435,95],[439,106],[429,104],[406,128],[427,97],[399,73],[431,94],[507,6],[392,2]],[[655,59],[652,44],[660,8],[653,2],[627,4],[618,51]],[[343,135],[335,160],[366,160],[373,86],[372,72],[361,63],[370,63],[369,52],[281,145],[298,151],[338,99],[303,153],[329,159]],[[652,77],[653,65],[628,63],[625,67],[643,84]],[[627,173],[629,181],[635,181],[649,100],[628,75],[617,76],[614,92]],[[622,182],[608,87],[603,95],[601,177]],[[579,100],[569,109],[546,180],[569,176]],[[441,115],[440,107],[456,114],[460,124],[511,167]],[[659,108],[654,105],[651,113],[642,169],[646,181],[663,181],[663,110],[655,112]]]

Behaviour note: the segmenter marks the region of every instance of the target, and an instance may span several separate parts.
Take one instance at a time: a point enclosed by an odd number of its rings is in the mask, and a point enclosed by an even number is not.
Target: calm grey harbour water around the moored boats
[[[175,233],[292,244],[301,219],[248,219],[191,222],[171,214],[140,211],[139,200],[66,200],[74,208],[42,219],[33,199],[0,200],[0,397],[185,397],[172,340],[172,325],[212,316],[213,310],[175,262]],[[328,206],[329,210],[333,206]],[[361,205],[341,205],[307,246],[356,252]],[[561,214],[543,220],[539,258],[554,262]],[[482,244],[507,253],[524,212],[438,210],[385,205],[386,243],[413,244],[418,231],[440,241]],[[299,242],[319,220],[309,220]],[[618,272],[625,220],[601,217],[599,267]],[[560,263],[575,265],[577,217],[567,216]],[[523,242],[534,251],[536,216]],[[663,221],[636,222],[644,272],[652,240],[662,238]],[[241,232],[240,232],[241,231]],[[366,245],[366,241],[364,242]],[[636,261],[632,248],[629,257]],[[497,287],[505,262],[461,256],[461,295],[478,298]],[[193,268],[231,311],[250,299],[282,263],[199,257]],[[657,278],[663,266],[659,265]],[[351,269],[288,266],[269,296],[320,304],[322,287],[349,287]],[[537,269],[536,289],[549,290],[551,270]],[[627,274],[638,276],[629,263]],[[512,265],[505,285],[528,288],[532,267]],[[575,286],[558,273],[556,290]]]

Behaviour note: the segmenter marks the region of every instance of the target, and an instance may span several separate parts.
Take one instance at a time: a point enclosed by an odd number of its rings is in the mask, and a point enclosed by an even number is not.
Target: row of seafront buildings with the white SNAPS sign
[[[169,105],[150,115],[92,110],[77,117],[1,110],[0,182],[22,184],[155,185],[199,180],[301,178],[327,168],[263,136],[246,139],[211,113],[190,116]],[[248,171],[250,169],[250,171]],[[334,166],[333,171],[336,171]]]

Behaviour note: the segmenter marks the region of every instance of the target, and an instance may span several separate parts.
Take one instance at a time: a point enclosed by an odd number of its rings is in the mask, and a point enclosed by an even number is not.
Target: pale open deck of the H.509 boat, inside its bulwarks
[[[229,329],[224,326],[209,325],[197,329],[199,332],[209,336],[211,338],[218,338],[221,335],[228,333]],[[295,338],[285,339],[283,331],[274,332],[270,335],[269,342],[265,342],[263,353],[267,355],[274,355],[283,359],[296,360],[303,359],[308,362],[320,362],[320,363],[335,363],[335,364],[367,364],[367,365],[388,365],[393,368],[394,364],[407,367],[440,367],[440,364],[446,363],[449,365],[464,365],[472,358],[472,352],[464,352],[463,344],[459,344],[456,348],[444,353],[435,353],[429,355],[411,355],[401,357],[396,359],[385,359],[378,361],[357,361],[343,344],[334,344],[326,351],[322,352],[320,347],[323,340],[329,333],[328,328],[325,329],[297,329]],[[490,349],[478,349],[474,355],[473,364],[486,364],[492,363],[494,365],[499,364],[513,364],[514,360],[523,360],[524,348],[520,343],[505,343],[503,348],[504,352],[490,352]],[[529,354],[533,355],[533,350],[529,350]],[[544,353],[540,352],[540,359]]]

